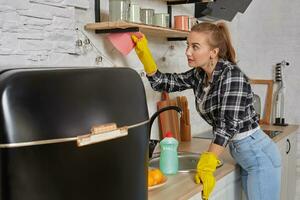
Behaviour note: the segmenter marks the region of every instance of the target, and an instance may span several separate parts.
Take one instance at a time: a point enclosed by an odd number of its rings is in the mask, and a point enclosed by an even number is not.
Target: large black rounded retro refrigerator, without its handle
[[[72,140],[149,120],[134,70],[8,69],[0,94],[0,200],[147,199],[147,123],[92,145]]]

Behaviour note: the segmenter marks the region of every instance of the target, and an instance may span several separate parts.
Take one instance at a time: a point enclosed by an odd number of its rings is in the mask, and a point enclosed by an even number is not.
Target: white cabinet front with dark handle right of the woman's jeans
[[[281,159],[281,198],[294,200],[296,195],[297,134],[291,133],[277,143]]]

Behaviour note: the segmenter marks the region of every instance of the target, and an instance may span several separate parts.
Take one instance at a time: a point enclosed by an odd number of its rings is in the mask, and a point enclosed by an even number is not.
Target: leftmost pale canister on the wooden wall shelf
[[[129,19],[129,2],[109,1],[109,21],[126,21]]]

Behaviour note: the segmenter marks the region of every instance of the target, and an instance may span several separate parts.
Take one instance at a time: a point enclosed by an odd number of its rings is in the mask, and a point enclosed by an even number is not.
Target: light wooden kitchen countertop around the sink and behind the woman
[[[295,132],[298,129],[298,125],[289,125],[286,127],[263,125],[263,130],[282,131],[279,135],[273,137],[275,142],[280,141],[289,134]],[[208,139],[196,139],[193,138],[191,142],[181,142],[178,151],[201,153],[208,149],[211,143]],[[236,163],[229,153],[228,147],[221,155],[220,159],[224,164],[222,167],[216,170],[216,180],[220,180],[227,174],[235,170]],[[148,192],[149,200],[161,200],[161,199],[188,199],[197,193],[202,191],[202,185],[196,185],[194,182],[194,173],[178,173],[173,176],[168,176],[168,182],[166,185]]]

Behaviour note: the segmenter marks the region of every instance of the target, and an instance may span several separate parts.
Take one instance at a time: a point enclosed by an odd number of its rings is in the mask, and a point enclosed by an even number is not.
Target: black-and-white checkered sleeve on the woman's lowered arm
[[[214,126],[213,143],[226,147],[245,118],[247,96],[251,88],[247,77],[237,67],[228,70],[220,84],[220,108]]]

